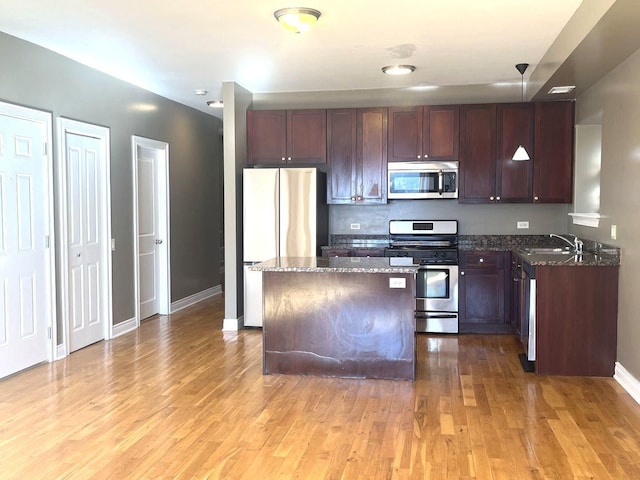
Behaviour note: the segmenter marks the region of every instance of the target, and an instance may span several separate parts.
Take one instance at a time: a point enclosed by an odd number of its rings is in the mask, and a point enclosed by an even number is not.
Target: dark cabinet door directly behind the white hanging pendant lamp
[[[497,109],[497,194],[500,202],[528,203],[533,198],[533,104],[504,103]],[[512,160],[522,145],[531,160]]]

